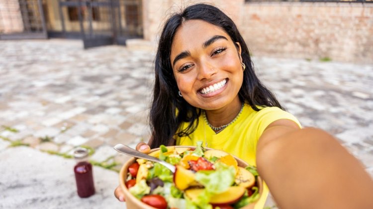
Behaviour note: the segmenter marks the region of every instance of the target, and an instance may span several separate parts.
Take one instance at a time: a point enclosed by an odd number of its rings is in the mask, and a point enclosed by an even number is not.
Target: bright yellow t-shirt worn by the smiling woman
[[[260,111],[255,111],[250,105],[245,104],[237,120],[216,134],[201,114],[197,129],[187,137],[176,137],[176,145],[195,146],[197,141],[203,141],[204,146],[224,150],[256,166],[258,139],[268,125],[279,119],[289,119],[301,127],[293,115],[278,107],[265,107]],[[184,123],[180,128],[185,129],[187,125]],[[268,187],[264,184],[262,197],[255,209],[264,207],[268,193]]]

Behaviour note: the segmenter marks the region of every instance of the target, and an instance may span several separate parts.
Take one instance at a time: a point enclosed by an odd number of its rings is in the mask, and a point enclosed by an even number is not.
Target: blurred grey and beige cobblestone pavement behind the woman
[[[65,157],[85,145],[118,170],[127,157],[112,146],[149,139],[153,59],[122,46],[83,50],[81,41],[1,41],[0,140]],[[336,136],[373,175],[372,65],[253,60],[304,127]]]

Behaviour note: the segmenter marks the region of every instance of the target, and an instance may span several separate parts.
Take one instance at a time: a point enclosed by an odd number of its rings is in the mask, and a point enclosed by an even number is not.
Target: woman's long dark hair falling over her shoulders
[[[198,124],[201,110],[188,104],[178,95],[171,65],[171,46],[178,28],[183,22],[191,19],[204,20],[216,25],[229,34],[232,41],[241,45],[241,56],[246,65],[239,98],[249,104],[254,110],[258,106],[281,107],[276,97],[268,90],[255,75],[250,59],[249,49],[234,22],[218,8],[208,4],[194,4],[188,6],[181,13],[172,15],[163,28],[155,58],[155,85],[153,102],[150,109],[150,127],[152,139],[150,146],[158,147],[169,144],[175,135],[179,137],[191,134]],[[184,130],[179,130],[183,122],[190,122]]]

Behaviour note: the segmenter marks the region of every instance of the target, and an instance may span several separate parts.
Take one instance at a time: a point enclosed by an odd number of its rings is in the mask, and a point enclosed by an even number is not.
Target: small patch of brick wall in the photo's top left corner
[[[0,0],[0,33],[23,31],[18,0]]]

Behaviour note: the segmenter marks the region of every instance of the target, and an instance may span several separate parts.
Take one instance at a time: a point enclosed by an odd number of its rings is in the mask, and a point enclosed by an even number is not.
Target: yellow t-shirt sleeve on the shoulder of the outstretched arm
[[[257,114],[258,117],[258,131],[257,131],[257,139],[262,136],[264,130],[274,121],[280,120],[280,119],[288,119],[291,121],[294,121],[299,128],[301,128],[301,125],[299,121],[293,116],[292,114],[281,110],[278,107],[265,107],[262,110],[260,110]]]

